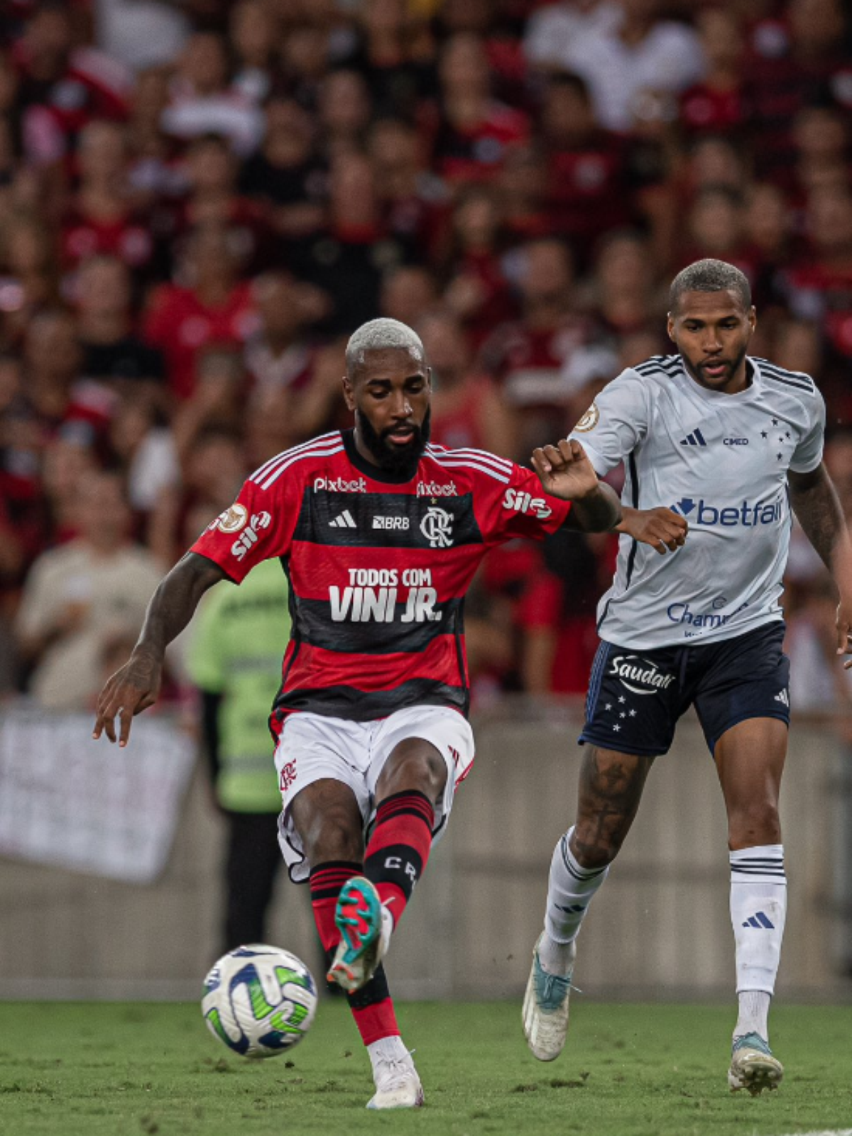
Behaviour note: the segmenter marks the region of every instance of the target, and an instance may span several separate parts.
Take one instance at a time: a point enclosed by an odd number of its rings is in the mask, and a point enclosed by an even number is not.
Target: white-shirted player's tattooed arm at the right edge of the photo
[[[852,542],[837,491],[821,462],[810,474],[791,469],[787,481],[799,524],[837,585],[837,654],[852,654]]]

